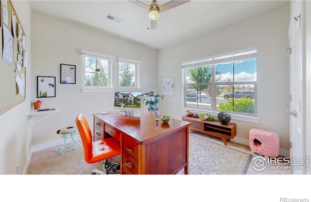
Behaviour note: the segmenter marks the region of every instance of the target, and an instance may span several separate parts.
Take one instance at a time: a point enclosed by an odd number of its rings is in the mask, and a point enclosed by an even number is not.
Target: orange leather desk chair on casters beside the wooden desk
[[[116,173],[110,171],[114,167],[119,167],[117,169],[120,169],[120,165],[114,163],[109,168],[106,159],[121,154],[120,142],[114,138],[105,138],[104,140],[92,141],[92,132],[88,126],[86,117],[83,114],[79,114],[76,117],[76,124],[81,136],[86,162],[96,163],[104,160],[104,171],[95,169],[91,172],[91,174]]]

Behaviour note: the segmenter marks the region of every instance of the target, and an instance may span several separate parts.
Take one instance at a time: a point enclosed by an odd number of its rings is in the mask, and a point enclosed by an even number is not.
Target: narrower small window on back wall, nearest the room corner
[[[119,87],[139,88],[139,66],[141,61],[118,58],[119,60]]]

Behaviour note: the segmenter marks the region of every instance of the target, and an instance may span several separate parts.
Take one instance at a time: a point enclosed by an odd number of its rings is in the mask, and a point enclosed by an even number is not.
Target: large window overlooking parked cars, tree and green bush
[[[186,61],[184,107],[256,116],[257,50]]]

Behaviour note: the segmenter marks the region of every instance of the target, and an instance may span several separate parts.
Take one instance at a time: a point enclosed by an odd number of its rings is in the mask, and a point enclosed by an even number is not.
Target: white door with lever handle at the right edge
[[[303,50],[302,50],[302,27],[303,14],[301,1],[295,1],[294,17],[290,23],[290,46],[292,54],[290,55],[290,141],[292,148],[290,148],[291,159],[301,160],[305,155],[305,137],[303,127]],[[293,163],[295,164],[295,163]],[[294,174],[304,174],[302,169],[293,170]]]

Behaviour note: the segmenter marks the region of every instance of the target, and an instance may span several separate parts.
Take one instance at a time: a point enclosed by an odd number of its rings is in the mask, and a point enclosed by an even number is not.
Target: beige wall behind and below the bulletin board
[[[0,115],[0,174],[24,173],[31,152],[31,127],[26,114],[31,100],[31,9],[28,1],[12,1],[26,34],[28,66],[26,67],[26,101]]]

